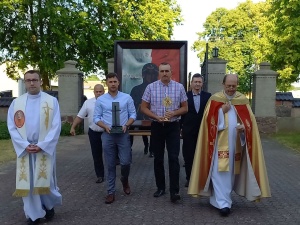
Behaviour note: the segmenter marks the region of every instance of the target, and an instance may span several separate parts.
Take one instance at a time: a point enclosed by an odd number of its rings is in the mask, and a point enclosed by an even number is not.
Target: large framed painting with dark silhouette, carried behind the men
[[[158,67],[171,65],[172,79],[187,88],[187,41],[115,41],[114,71],[120,91],[133,97],[137,120],[145,120],[139,106],[146,86],[159,79]]]

